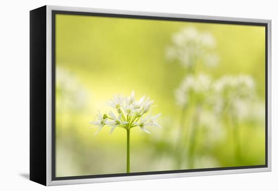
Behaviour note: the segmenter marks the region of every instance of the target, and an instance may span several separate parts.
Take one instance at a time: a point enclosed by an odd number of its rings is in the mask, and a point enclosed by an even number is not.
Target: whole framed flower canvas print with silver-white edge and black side
[[[30,179],[271,170],[271,21],[30,11]]]

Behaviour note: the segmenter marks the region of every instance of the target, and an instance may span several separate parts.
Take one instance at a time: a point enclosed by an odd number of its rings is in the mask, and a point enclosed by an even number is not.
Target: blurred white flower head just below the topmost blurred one
[[[211,90],[211,79],[206,74],[187,75],[175,91],[177,105],[186,106],[193,100],[206,101]]]

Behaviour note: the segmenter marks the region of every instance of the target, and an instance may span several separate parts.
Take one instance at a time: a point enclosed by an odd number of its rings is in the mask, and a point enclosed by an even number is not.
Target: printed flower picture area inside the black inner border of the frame
[[[265,165],[265,27],[56,14],[55,176]]]

